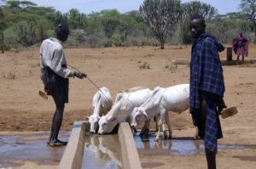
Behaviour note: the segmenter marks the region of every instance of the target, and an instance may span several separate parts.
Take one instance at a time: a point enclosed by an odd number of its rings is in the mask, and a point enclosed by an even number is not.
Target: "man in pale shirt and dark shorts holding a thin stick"
[[[62,42],[67,41],[69,29],[67,25],[55,27],[55,37],[44,40],[40,47],[41,79],[44,90],[55,101],[55,115],[53,116],[51,132],[49,135],[50,146],[67,145],[67,142],[58,139],[65,103],[68,103],[68,77],[86,77],[84,73],[67,69],[67,61],[62,47]]]

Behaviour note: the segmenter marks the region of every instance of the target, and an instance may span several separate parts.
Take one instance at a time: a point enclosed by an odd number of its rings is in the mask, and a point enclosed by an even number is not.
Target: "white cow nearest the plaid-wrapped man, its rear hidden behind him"
[[[172,138],[172,129],[170,126],[169,116],[167,111],[181,113],[189,108],[189,84],[181,84],[173,87],[155,87],[152,96],[144,102],[140,107],[134,108],[132,111],[131,127],[147,121],[148,119],[160,115],[159,130],[155,141],[160,138],[161,127],[165,138],[166,129],[164,120],[169,130],[169,138]]]

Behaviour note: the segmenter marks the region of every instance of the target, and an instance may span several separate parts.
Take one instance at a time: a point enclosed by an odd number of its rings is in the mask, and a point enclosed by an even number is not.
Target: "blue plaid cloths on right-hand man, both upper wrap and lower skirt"
[[[204,139],[206,148],[214,152],[217,152],[217,139],[222,138],[216,108],[218,97],[224,95],[223,69],[218,55],[218,52],[223,50],[224,46],[212,34],[203,33],[192,46],[190,62],[190,112],[197,127],[201,109],[200,91],[212,94],[211,99],[207,100]]]

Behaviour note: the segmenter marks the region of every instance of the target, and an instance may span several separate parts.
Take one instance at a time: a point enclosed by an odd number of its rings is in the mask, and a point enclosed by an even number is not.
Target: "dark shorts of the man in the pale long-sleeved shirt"
[[[51,91],[56,107],[64,107],[65,103],[68,103],[68,83],[68,78],[58,76],[48,68],[46,85]]]

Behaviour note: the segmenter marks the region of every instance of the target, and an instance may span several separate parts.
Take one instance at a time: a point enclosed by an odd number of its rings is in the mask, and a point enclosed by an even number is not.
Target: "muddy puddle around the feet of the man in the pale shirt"
[[[68,141],[70,132],[60,132],[59,138]],[[61,161],[65,147],[50,147],[46,144],[49,132],[0,136],[0,168],[22,166],[22,161],[38,164],[55,164]],[[15,162],[19,161],[19,162]]]

